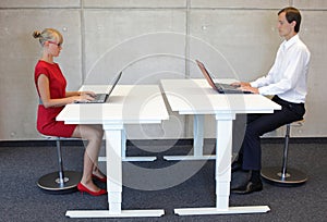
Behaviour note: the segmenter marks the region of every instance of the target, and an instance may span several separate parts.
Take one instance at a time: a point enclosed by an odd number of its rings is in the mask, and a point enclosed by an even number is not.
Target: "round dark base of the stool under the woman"
[[[37,185],[48,194],[69,194],[77,190],[81,178],[81,172],[64,171],[64,182],[60,183],[59,173],[53,172],[41,176]]]

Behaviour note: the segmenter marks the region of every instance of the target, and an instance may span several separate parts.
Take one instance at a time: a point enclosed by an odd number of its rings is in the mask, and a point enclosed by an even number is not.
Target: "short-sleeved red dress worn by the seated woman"
[[[37,79],[40,74],[44,74],[49,78],[51,99],[65,97],[66,81],[57,63],[52,64],[39,60],[36,64],[34,78],[38,96],[39,89],[37,86]],[[56,121],[56,116],[61,112],[62,109],[63,107],[45,108],[40,100],[37,110],[37,131],[49,136],[71,137],[76,128],[76,125],[64,124],[62,121]]]

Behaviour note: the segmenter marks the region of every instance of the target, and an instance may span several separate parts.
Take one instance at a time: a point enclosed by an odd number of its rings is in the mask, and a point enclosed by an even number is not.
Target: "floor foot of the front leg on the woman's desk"
[[[161,217],[165,210],[122,210],[110,212],[109,210],[69,210],[69,218],[135,218],[135,217]]]

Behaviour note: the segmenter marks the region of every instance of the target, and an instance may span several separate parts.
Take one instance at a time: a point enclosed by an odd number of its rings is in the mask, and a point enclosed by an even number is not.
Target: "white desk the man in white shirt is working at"
[[[161,88],[172,111],[216,118],[216,207],[174,209],[174,212],[185,215],[269,211],[268,206],[229,207],[232,121],[238,113],[272,113],[280,106],[259,95],[218,94],[205,79],[162,79]]]

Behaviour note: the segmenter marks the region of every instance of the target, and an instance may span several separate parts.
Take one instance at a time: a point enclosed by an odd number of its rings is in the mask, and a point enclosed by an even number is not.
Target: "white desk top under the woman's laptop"
[[[104,92],[107,86],[83,86]],[[156,85],[118,85],[106,103],[68,104],[57,116],[66,124],[140,124],[168,120],[161,91]]]

